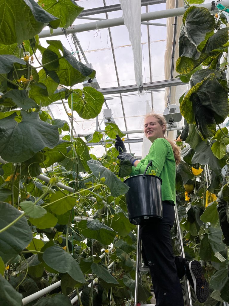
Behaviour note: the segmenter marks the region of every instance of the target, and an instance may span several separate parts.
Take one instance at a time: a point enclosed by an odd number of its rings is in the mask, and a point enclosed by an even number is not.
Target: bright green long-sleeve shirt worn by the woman
[[[162,201],[171,201],[175,203],[176,200],[176,162],[173,155],[171,144],[165,138],[157,138],[150,147],[149,154],[137,164],[132,166],[130,176],[143,174],[146,170],[147,164],[152,160],[146,174],[151,173],[151,170],[156,172],[156,176],[162,179]]]

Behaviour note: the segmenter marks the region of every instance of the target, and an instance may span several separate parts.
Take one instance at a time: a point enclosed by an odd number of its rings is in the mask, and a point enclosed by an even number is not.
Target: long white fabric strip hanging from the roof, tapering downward
[[[132,43],[134,74],[138,93],[143,94],[142,50],[141,50],[141,0],[120,0],[124,24]]]

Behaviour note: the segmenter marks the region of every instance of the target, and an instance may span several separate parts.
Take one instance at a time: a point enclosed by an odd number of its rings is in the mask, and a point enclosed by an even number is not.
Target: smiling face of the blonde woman
[[[165,129],[165,124],[160,125],[157,118],[150,116],[145,119],[144,133],[151,142],[154,142],[157,138],[164,137]]]

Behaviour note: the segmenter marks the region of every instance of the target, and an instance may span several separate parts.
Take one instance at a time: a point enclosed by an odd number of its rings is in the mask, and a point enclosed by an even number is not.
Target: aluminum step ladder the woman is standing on
[[[177,206],[174,206],[175,210],[175,218],[176,218],[176,225],[177,225],[177,236],[179,241],[179,248],[180,248],[180,256],[184,256],[184,247],[183,247],[183,235],[180,229],[180,222],[179,216],[177,212]],[[139,234],[139,225],[137,226],[137,252],[136,252],[136,272],[135,272],[135,288],[134,288],[134,306],[155,306],[155,304],[141,304],[137,301],[137,293],[138,293],[138,283],[141,283],[141,272],[143,271],[150,271],[148,267],[142,267],[142,260],[141,260],[141,239]],[[191,291],[189,282],[184,276],[184,292],[185,292],[185,300],[186,306],[192,306],[192,298],[191,298]]]

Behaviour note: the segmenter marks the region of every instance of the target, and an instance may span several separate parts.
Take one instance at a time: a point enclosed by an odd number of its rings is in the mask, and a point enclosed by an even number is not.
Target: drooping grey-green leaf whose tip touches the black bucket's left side
[[[129,190],[127,185],[120,181],[113,172],[102,166],[98,160],[89,160],[87,164],[96,177],[105,178],[104,185],[111,189],[112,196],[120,196]]]

